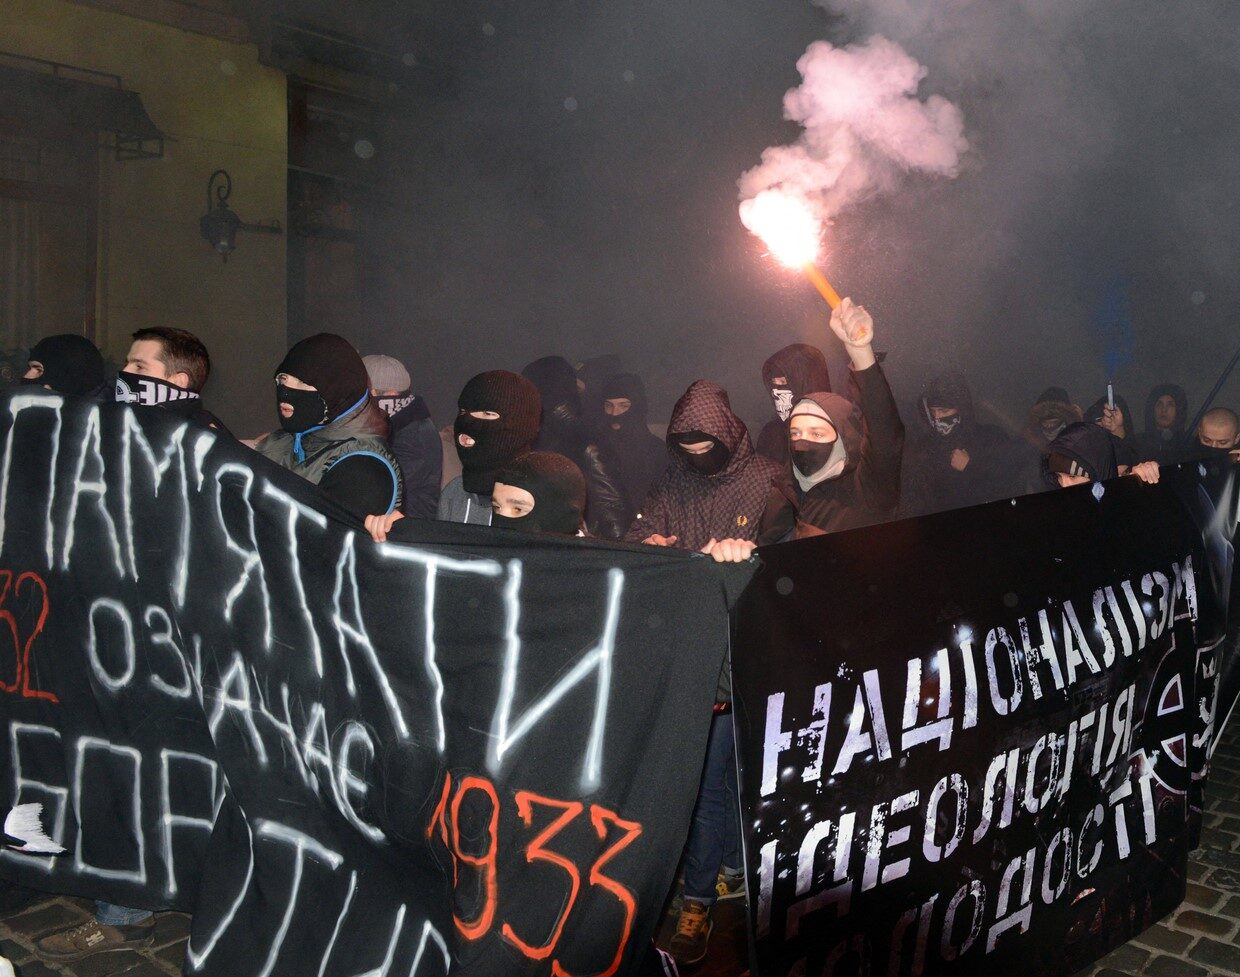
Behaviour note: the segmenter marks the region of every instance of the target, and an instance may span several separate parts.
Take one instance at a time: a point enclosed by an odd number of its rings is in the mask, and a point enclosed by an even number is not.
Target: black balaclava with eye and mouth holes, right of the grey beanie
[[[538,388],[517,373],[491,369],[465,384],[456,407],[453,440],[461,460],[461,482],[466,492],[490,495],[496,470],[528,451],[538,436],[542,414]],[[491,410],[500,417],[495,420],[471,417],[475,410]],[[470,448],[461,446],[461,434],[474,439]]]

